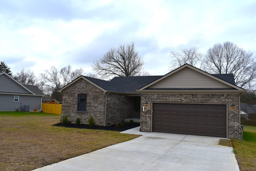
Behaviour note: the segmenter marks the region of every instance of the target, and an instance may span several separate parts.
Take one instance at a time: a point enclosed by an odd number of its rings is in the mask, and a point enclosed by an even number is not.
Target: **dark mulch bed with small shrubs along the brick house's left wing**
[[[128,123],[125,124],[124,126],[119,126],[116,127],[116,125],[110,125],[110,126],[92,126],[89,127],[89,125],[86,124],[80,124],[80,125],[76,125],[76,124],[63,124],[63,123],[56,123],[53,126],[58,126],[58,127],[70,127],[70,128],[81,128],[81,129],[103,129],[103,130],[108,130],[108,131],[125,131],[128,129],[132,129],[135,127],[140,126],[140,123]]]

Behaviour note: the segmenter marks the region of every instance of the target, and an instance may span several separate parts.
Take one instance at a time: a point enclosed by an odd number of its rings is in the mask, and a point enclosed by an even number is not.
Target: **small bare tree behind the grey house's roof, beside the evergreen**
[[[20,84],[36,85],[38,83],[38,78],[30,69],[25,70],[22,68],[16,73],[14,79],[17,80]]]

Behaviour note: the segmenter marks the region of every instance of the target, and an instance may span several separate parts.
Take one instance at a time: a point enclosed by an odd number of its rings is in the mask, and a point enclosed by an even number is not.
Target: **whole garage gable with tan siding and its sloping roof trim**
[[[185,64],[176,70],[164,75],[154,82],[141,87],[138,90],[144,89],[239,89],[244,90],[232,83],[221,78],[229,77],[216,74],[216,76],[208,74],[198,68]],[[234,77],[233,77],[234,78]]]

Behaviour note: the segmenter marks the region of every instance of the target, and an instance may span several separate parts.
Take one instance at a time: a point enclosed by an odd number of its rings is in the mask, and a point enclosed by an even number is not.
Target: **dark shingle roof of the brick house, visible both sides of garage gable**
[[[217,78],[220,78],[230,84],[235,85],[233,74],[212,74]],[[102,87],[106,91],[116,92],[136,92],[136,89],[144,87],[145,85],[154,82],[162,76],[134,76],[134,77],[115,77],[110,81],[100,80],[84,76],[84,78],[90,80],[94,84]]]

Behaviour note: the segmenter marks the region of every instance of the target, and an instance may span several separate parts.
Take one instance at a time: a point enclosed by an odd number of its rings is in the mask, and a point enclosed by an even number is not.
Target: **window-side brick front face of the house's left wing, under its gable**
[[[86,111],[77,111],[78,108],[78,94],[87,94],[86,97]],[[94,117],[95,125],[104,125],[105,117],[105,93],[86,82],[83,79],[70,85],[62,91],[62,115],[68,116],[71,123],[76,123],[79,117],[81,124],[88,124],[88,119]]]

